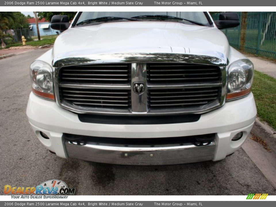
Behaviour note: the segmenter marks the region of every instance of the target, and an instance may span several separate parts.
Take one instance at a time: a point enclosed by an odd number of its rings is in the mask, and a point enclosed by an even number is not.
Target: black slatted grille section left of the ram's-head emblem
[[[79,110],[126,110],[131,106],[131,64],[69,66],[59,71],[60,100]]]

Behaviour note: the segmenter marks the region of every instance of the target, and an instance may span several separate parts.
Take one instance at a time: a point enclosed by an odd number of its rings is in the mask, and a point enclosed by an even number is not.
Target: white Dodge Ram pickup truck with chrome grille
[[[53,49],[30,65],[27,116],[62,158],[134,165],[221,160],[256,117],[253,64],[220,31],[235,13],[53,16]]]

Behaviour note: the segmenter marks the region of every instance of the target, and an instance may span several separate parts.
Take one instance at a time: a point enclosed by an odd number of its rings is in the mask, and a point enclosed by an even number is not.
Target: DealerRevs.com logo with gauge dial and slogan
[[[68,188],[66,183],[61,180],[47,180],[36,187],[4,186],[4,193],[13,195],[12,198],[27,198],[26,196],[29,198],[42,198],[42,196],[39,195],[74,195],[75,190],[75,188]],[[47,197],[43,196],[43,198]]]

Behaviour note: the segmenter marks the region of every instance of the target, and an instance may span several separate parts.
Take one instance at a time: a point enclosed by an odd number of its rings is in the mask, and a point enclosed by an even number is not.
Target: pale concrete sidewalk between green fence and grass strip
[[[276,78],[276,63],[270,60],[265,60],[261,57],[253,55],[247,56],[254,64],[254,70],[265,73],[273,78]]]

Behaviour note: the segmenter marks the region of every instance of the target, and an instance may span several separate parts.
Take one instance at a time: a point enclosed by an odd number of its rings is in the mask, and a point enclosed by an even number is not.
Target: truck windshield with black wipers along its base
[[[108,18],[106,18],[108,17]],[[81,12],[74,25],[84,26],[95,22],[107,21],[179,21],[185,24],[199,24],[209,26],[204,12]]]

